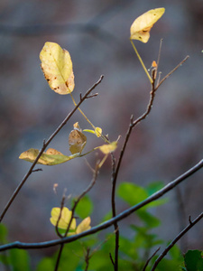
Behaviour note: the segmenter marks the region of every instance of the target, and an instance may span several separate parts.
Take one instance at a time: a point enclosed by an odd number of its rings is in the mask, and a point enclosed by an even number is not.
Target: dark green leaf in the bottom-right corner
[[[202,271],[203,270],[203,258],[202,251],[189,250],[184,258],[185,258],[185,266],[187,271]]]

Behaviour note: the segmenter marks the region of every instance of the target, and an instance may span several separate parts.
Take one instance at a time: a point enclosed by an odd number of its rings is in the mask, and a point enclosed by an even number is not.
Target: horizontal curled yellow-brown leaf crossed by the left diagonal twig
[[[37,149],[29,149],[23,152],[23,154],[21,154],[19,158],[33,163],[37,155],[39,154],[39,152],[40,151]],[[41,155],[37,164],[46,164],[46,165],[62,164],[76,157],[78,157],[78,154],[67,156],[67,155],[61,154],[59,151],[55,149],[50,148],[47,150],[46,153],[43,153]]]

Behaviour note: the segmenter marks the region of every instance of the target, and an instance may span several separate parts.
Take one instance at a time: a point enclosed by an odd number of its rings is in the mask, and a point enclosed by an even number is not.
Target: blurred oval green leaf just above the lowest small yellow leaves
[[[89,199],[88,195],[86,195],[78,202],[76,213],[78,214],[79,218],[84,220],[92,213],[92,210],[92,201]]]

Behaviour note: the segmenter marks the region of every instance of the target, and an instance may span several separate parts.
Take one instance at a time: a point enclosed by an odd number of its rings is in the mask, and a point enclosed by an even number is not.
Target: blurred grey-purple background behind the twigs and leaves
[[[146,44],[135,41],[147,68],[157,60],[162,42],[161,76],[172,70],[186,55],[189,60],[176,70],[158,90],[152,113],[134,129],[126,149],[118,183],[171,182],[202,158],[203,106],[203,3],[200,0],[1,0],[0,2],[0,206],[23,179],[31,164],[18,159],[23,151],[40,149],[73,108],[69,96],[60,96],[48,86],[40,68],[39,53],[44,42],[57,42],[69,51],[75,73],[73,96],[85,93],[104,74],[95,89],[97,98],[88,99],[82,110],[95,126],[100,126],[111,141],[125,139],[130,117],[139,117],[149,100],[147,79],[131,43],[130,26],[144,12],[165,7],[166,12],[151,31]],[[75,122],[90,128],[77,112],[50,147],[69,155],[68,136]],[[87,135],[85,151],[102,141]],[[87,156],[94,167],[97,155]],[[60,206],[64,189],[77,196],[92,178],[84,158],[56,166],[38,165],[3,222],[10,241],[45,241],[56,238],[51,223],[52,207]],[[97,225],[110,210],[110,159],[100,171],[89,193],[94,202],[92,225]],[[174,238],[191,218],[202,211],[202,177],[199,171],[165,198],[169,202],[154,211],[162,220],[161,238]],[[53,192],[58,183],[58,194]],[[117,212],[127,205],[117,201]],[[180,205],[183,206],[180,210]],[[68,207],[69,202],[68,202]],[[125,223],[139,223],[134,216]],[[203,248],[202,221],[187,235],[186,248]],[[130,233],[129,233],[130,234]],[[52,249],[53,250],[53,249]],[[51,251],[52,251],[51,250]],[[48,250],[43,250],[46,254]],[[42,251],[35,251],[41,257]]]

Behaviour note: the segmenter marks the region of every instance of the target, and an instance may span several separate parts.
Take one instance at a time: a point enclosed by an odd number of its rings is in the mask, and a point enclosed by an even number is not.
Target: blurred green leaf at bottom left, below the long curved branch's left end
[[[10,259],[13,271],[30,270],[30,258],[25,250],[11,249]]]

